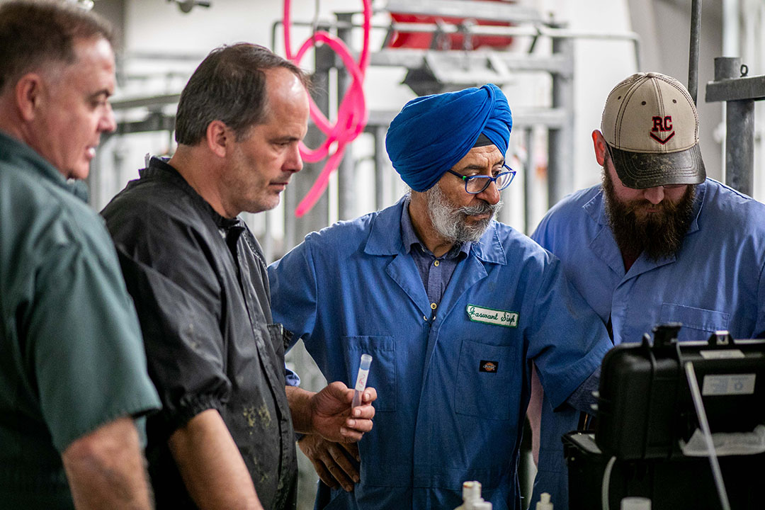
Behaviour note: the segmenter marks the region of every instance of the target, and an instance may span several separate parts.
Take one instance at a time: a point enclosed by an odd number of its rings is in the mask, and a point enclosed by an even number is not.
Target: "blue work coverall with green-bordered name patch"
[[[606,330],[555,257],[496,222],[431,316],[402,240],[403,204],[311,233],[269,267],[275,320],[328,381],[350,384],[361,354],[373,356],[360,482],[333,490],[326,508],[454,508],[466,480],[495,510],[520,508],[531,363],[562,404],[601,362]]]

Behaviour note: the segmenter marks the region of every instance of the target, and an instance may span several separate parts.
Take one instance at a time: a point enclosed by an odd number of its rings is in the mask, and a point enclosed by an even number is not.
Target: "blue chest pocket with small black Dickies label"
[[[510,346],[462,341],[454,391],[457,414],[490,420],[509,418],[510,396],[519,393],[512,384],[513,350]]]

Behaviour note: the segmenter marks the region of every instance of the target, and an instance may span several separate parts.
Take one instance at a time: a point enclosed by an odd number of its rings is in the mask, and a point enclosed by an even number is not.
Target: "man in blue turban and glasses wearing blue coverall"
[[[607,332],[555,257],[493,220],[511,127],[494,85],[412,100],[386,137],[411,192],[269,267],[275,320],[327,380],[353,382],[373,357],[376,423],[358,450],[301,439],[336,487],[317,508],[454,508],[467,480],[495,510],[521,508],[532,361],[556,407],[587,408]]]

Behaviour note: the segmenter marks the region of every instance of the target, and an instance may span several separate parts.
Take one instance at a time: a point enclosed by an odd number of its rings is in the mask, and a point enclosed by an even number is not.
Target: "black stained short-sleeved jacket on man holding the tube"
[[[168,449],[216,409],[264,508],[294,508],[297,461],[285,395],[282,328],[272,324],[258,242],[170,165],[152,158],[102,212],[144,334],[163,410],[147,423],[158,508],[195,508]]]

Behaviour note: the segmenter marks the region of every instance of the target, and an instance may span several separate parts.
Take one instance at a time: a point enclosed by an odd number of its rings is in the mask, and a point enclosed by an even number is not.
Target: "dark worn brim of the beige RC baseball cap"
[[[701,184],[707,177],[698,144],[685,151],[649,154],[610,147],[622,184],[636,190],[669,184]]]

